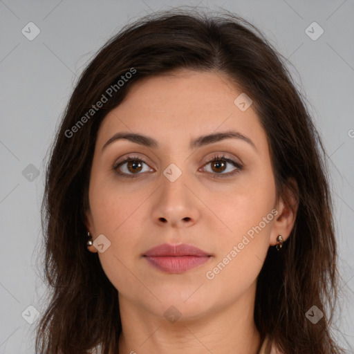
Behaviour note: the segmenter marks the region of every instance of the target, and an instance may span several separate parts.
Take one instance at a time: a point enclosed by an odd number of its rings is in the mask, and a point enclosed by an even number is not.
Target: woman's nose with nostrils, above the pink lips
[[[201,204],[193,188],[185,184],[183,175],[174,182],[166,178],[155,194],[152,209],[153,221],[165,227],[192,226],[201,217],[199,209]]]

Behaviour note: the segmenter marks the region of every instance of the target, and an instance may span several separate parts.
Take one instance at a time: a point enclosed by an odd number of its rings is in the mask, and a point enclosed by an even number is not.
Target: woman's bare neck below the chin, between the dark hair
[[[254,298],[250,301],[250,293],[245,295],[228,306],[209,309],[197,318],[181,316],[174,323],[120,295],[119,353],[257,354],[261,336],[254,324]]]

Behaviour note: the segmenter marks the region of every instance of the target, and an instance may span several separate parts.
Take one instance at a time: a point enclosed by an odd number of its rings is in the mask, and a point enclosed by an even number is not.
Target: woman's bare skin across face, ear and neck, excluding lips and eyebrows
[[[234,104],[241,92],[215,72],[176,71],[148,77],[135,84],[102,122],[86,227],[93,240],[104,234],[111,242],[98,257],[119,294],[120,353],[259,351],[261,337],[253,319],[257,276],[277,236],[288,238],[296,209],[276,200],[265,131],[252,105],[241,111]],[[194,138],[229,130],[250,138],[255,149],[232,138],[189,148]],[[154,138],[159,147],[123,139],[102,151],[105,142],[122,131]],[[147,163],[141,162],[136,178],[124,178],[112,169],[129,153]],[[220,153],[243,169],[223,178],[221,174],[235,167],[227,162],[223,171],[208,163]],[[174,182],[163,174],[171,163],[182,171]],[[127,167],[125,163],[120,169],[134,173]],[[214,279],[207,279],[206,272],[272,209],[277,216]],[[161,243],[190,243],[213,257],[182,274],[167,274],[142,257]],[[94,246],[88,250],[97,252]],[[180,313],[177,322],[164,315],[170,306]]]

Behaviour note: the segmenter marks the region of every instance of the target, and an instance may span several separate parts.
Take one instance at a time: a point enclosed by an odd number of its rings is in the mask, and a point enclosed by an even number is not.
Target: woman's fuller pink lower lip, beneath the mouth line
[[[194,256],[166,256],[166,257],[147,257],[147,261],[162,272],[180,274],[189,269],[198,267],[209,260],[210,257]]]

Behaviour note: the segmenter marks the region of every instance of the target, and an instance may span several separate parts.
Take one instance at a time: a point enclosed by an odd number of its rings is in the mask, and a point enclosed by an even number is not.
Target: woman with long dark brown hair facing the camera
[[[279,57],[182,10],[95,55],[48,165],[37,351],[342,353],[324,149]]]

